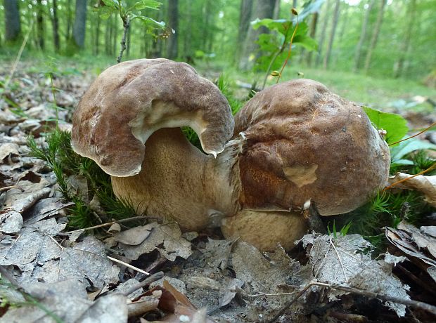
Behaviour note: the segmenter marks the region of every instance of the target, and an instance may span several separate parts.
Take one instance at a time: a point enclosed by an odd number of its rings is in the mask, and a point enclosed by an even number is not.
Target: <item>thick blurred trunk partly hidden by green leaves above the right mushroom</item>
[[[250,20],[255,20],[256,18],[272,18],[274,13],[274,5],[276,0],[256,0],[255,1],[255,11],[252,13]],[[245,46],[243,48],[243,55],[239,61],[239,68],[241,70],[250,70],[254,65],[254,58],[259,57],[259,45],[256,41],[260,34],[267,34],[269,30],[267,27],[259,27],[258,29],[249,28],[247,38],[245,39]]]

